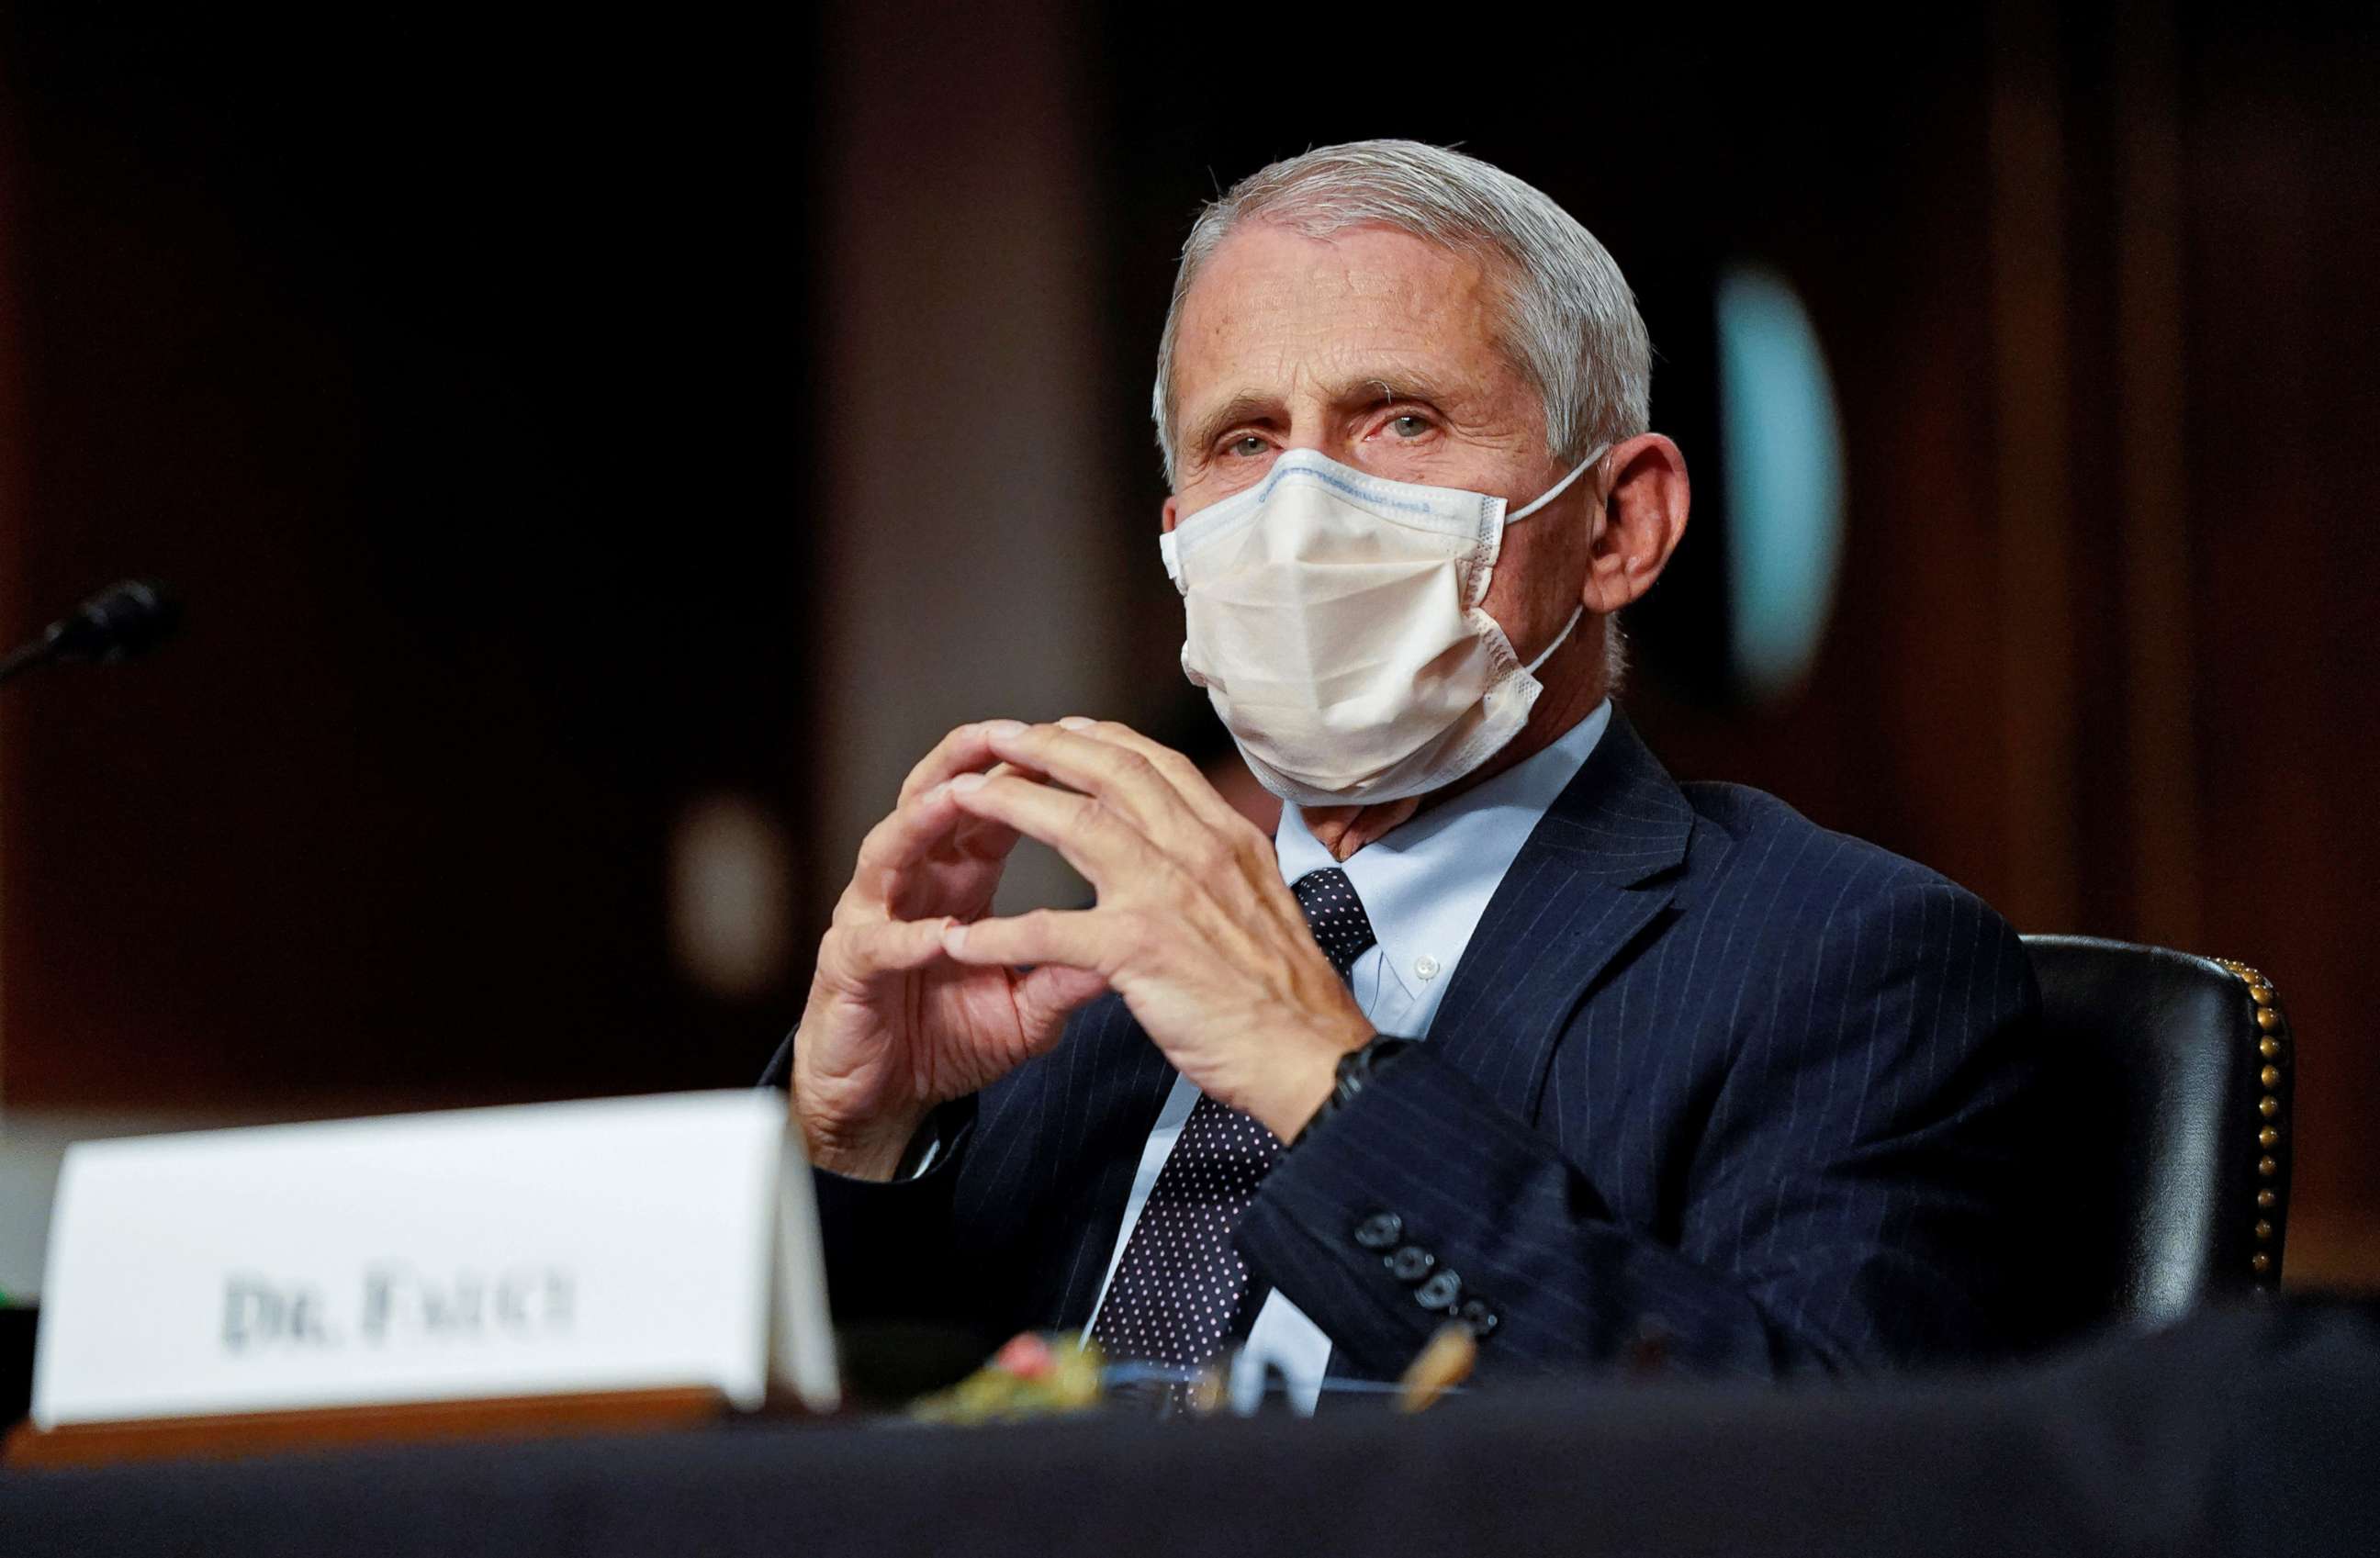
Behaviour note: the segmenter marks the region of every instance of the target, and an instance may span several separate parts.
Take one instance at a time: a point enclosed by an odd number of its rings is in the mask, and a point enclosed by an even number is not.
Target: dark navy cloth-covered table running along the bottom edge
[[[2199,1315],[1968,1382],[0,1472],[7,1558],[933,1551],[2373,1553],[2380,1308]]]

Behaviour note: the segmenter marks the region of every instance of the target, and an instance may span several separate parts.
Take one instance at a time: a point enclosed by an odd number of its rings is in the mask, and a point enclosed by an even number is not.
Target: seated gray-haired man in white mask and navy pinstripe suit
[[[1611,257],[1471,157],[1326,147],[1200,216],[1161,552],[1290,804],[1266,840],[1090,718],[916,766],[771,1073],[840,1318],[1245,1339],[1307,1403],[1457,1320],[1483,1377],[2033,1337],[2023,947],[1611,704],[1687,516],[1647,378]],[[985,918],[1019,835],[1097,906]]]

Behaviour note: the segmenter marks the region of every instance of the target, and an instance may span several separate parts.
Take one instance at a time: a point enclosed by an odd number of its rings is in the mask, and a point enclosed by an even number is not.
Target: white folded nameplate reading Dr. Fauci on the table
[[[835,1403],[776,1092],[67,1149],[33,1422],[769,1384]]]

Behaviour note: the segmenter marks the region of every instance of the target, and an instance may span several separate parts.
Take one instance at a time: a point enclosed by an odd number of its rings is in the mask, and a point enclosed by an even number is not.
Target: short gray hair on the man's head
[[[1552,454],[1578,461],[1652,426],[1652,343],[1618,264],[1542,190],[1418,140],[1352,140],[1259,169],[1200,212],[1157,345],[1157,447],[1176,480],[1173,347],[1190,283],[1245,221],[1307,238],[1388,226],[1504,274],[1502,347],[1545,397]]]

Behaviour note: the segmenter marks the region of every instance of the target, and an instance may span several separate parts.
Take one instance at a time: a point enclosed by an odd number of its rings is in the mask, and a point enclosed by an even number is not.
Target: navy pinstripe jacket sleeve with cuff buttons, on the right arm
[[[1447,1320],[1388,1256],[1426,1251],[1495,1315],[1483,1372],[1654,1361],[1861,1370],[2030,1339],[2013,1273],[2037,1192],[2040,997],[2023,944],[1925,878],[1787,947],[1730,1035],[1673,1239],[1614,1220],[1554,1139],[1428,1044],[1283,1156],[1238,1227],[1250,1265],[1347,1361],[1395,1375]],[[1806,1013],[1806,1016],[1804,1016]],[[2033,1144],[2037,1146],[2037,1142]],[[1371,1242],[1395,1220],[1392,1249]]]

